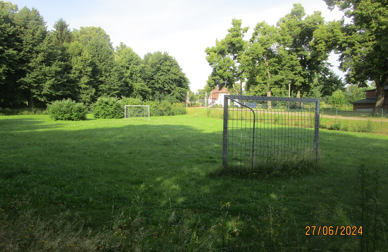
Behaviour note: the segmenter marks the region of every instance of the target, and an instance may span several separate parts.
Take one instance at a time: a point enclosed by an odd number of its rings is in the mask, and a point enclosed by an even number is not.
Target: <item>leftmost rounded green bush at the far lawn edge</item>
[[[76,103],[71,99],[54,101],[47,106],[50,118],[54,120],[85,120],[87,108],[82,103]]]

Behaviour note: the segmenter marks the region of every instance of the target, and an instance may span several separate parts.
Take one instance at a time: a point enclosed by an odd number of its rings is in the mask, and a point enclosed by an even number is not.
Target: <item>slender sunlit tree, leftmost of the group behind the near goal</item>
[[[227,87],[234,89],[237,94],[242,93],[242,82],[245,81],[245,71],[241,62],[248,46],[244,41],[244,34],[249,27],[241,27],[241,19],[232,19],[232,27],[221,41],[216,40],[216,45],[206,48],[206,60],[213,68],[208,85],[214,88]],[[236,85],[236,82],[238,83]]]

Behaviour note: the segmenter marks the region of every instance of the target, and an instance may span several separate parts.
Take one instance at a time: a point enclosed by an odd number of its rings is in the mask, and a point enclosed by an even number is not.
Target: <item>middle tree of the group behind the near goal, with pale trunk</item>
[[[271,96],[274,93],[275,96],[288,96],[289,79],[302,80],[298,58],[286,48],[289,41],[291,36],[279,27],[265,22],[256,25],[246,51],[249,58],[245,62],[248,94]]]

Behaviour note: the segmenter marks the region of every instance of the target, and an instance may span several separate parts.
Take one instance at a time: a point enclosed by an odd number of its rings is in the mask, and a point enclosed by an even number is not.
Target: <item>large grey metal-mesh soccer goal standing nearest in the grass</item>
[[[260,171],[318,163],[319,99],[224,97],[223,167]]]

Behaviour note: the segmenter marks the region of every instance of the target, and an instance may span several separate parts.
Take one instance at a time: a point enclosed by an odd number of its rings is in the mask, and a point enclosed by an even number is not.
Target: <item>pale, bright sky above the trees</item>
[[[7,0],[6,0],[7,1]],[[53,29],[54,22],[64,19],[71,30],[81,26],[101,27],[113,46],[120,42],[140,57],[148,52],[167,52],[174,57],[190,81],[191,91],[202,89],[211,74],[206,61],[207,47],[215,46],[228,33],[232,19],[249,26],[249,39],[258,22],[275,24],[289,13],[293,3],[301,3],[307,15],[322,12],[325,21],[339,20],[342,13],[327,9],[323,0],[8,0],[19,9],[35,8]],[[329,61],[338,66],[338,55]],[[343,73],[336,67],[338,75]]]

